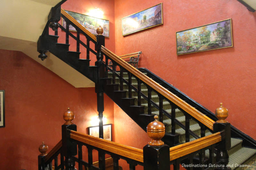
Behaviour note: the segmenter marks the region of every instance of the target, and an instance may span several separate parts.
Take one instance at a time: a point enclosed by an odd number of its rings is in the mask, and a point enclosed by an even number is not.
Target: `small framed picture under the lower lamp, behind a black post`
[[[88,127],[88,134],[99,137],[99,126]],[[103,138],[112,141],[112,124],[103,125]]]

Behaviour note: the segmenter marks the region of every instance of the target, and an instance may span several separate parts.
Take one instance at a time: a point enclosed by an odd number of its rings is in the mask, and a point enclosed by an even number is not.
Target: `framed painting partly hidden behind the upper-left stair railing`
[[[91,17],[88,15],[72,12],[72,11],[66,11],[71,17],[75,18],[77,22],[79,22],[82,26],[84,26],[88,31],[90,31],[92,34],[97,35],[96,29],[98,27],[102,27],[104,32],[102,35],[105,37],[109,37],[109,21],[106,19],[100,19]],[[61,25],[66,28],[66,22],[65,19],[62,18]],[[74,28],[72,25],[69,25],[69,31],[76,31],[76,28]]]

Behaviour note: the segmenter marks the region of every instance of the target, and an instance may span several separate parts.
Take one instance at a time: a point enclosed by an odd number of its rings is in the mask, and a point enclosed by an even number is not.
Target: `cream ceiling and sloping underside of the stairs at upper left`
[[[0,0],[0,49],[21,51],[75,87],[95,84],[51,53],[38,58],[36,42],[47,23],[48,14],[61,0]]]

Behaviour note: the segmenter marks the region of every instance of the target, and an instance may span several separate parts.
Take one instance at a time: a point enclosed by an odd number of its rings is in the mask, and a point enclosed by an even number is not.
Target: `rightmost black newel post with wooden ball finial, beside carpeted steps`
[[[215,147],[217,149],[216,161],[220,162],[220,166],[216,169],[221,170],[231,170],[228,167],[228,149],[231,147],[231,131],[230,131],[230,123],[226,121],[228,117],[228,109],[222,106],[220,103],[220,107],[218,107],[215,111],[215,115],[218,120],[213,124],[213,132],[221,132],[221,142]]]

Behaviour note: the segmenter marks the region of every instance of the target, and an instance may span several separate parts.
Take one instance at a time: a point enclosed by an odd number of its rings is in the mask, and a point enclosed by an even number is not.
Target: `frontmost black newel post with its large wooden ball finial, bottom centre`
[[[147,126],[147,134],[151,140],[143,147],[144,170],[169,170],[170,147],[161,141],[165,134],[165,126],[157,121],[157,115],[154,119],[155,121]]]

